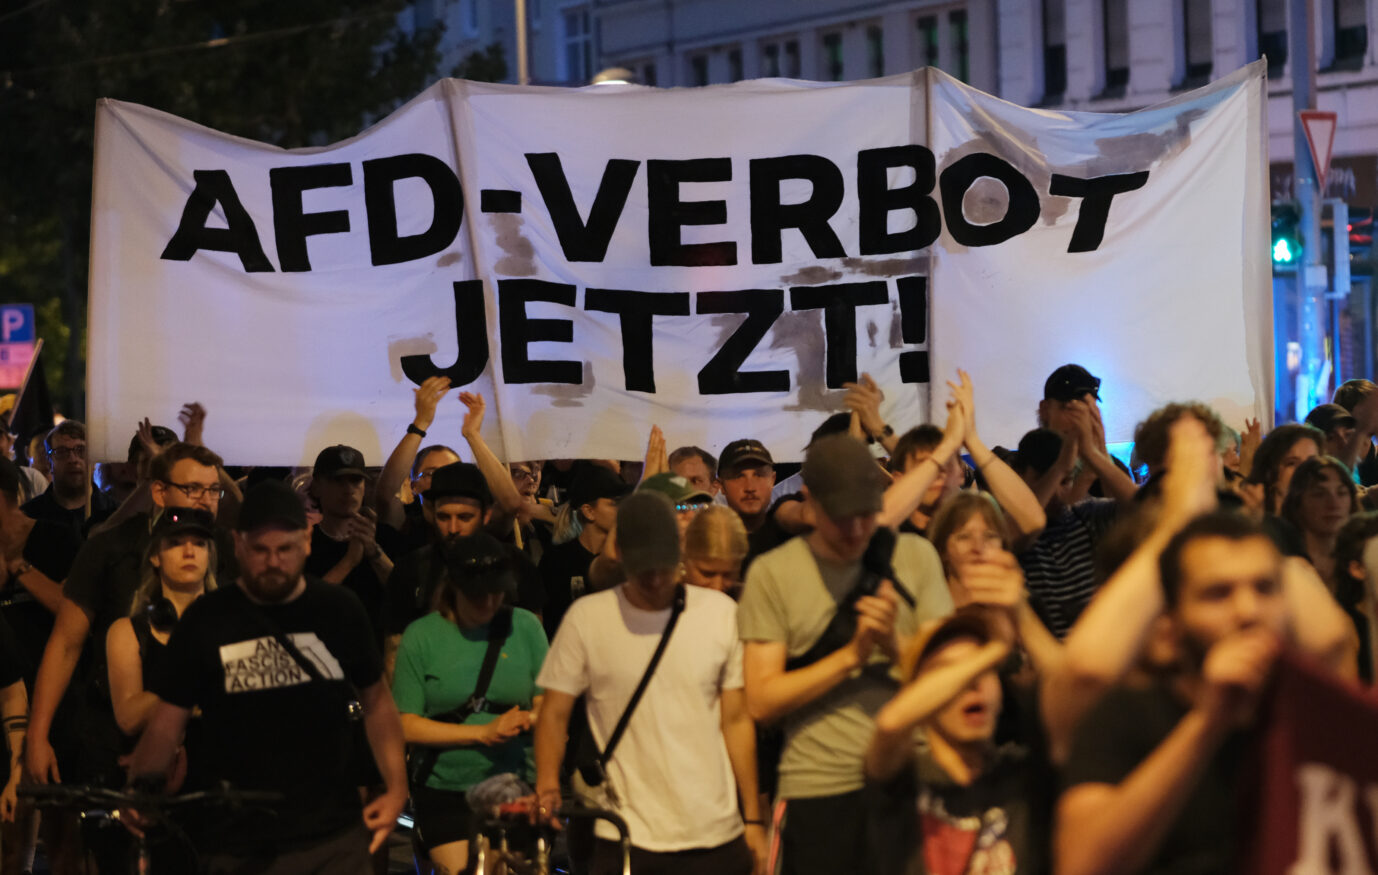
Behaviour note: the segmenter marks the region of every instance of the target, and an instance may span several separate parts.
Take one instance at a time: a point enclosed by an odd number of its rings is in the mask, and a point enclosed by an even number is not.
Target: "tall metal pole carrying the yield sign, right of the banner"
[[[1293,185],[1301,207],[1304,259],[1297,270],[1298,340],[1301,368],[1297,371],[1297,411],[1301,420],[1319,404],[1326,364],[1326,276],[1320,260],[1320,192],[1316,190],[1316,167],[1310,158],[1306,132],[1297,114],[1316,109],[1316,48],[1312,40],[1313,0],[1291,0],[1287,33],[1293,80]]]

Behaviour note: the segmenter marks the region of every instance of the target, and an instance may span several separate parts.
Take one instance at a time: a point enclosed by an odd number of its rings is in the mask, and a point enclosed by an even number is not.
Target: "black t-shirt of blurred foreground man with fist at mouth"
[[[1064,787],[1119,784],[1186,715],[1163,683],[1111,690],[1076,729]],[[1145,874],[1206,875],[1237,869],[1239,787],[1248,736],[1229,736],[1192,787]]]

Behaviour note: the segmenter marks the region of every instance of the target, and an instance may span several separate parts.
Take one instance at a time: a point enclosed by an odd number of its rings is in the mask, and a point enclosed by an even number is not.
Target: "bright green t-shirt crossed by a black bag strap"
[[[489,710],[471,714],[464,721],[482,726],[497,719],[511,706],[531,708],[533,696],[540,694],[536,674],[550,648],[540,620],[529,610],[513,610],[513,631],[503,645],[488,685]],[[393,700],[402,714],[430,717],[453,711],[464,704],[478,682],[478,670],[488,652],[488,626],[460,630],[431,612],[402,632],[397,650],[397,670],[393,675]],[[469,790],[493,774],[511,772],[533,780],[531,733],[522,733],[506,744],[495,747],[467,745],[442,751],[435,768],[426,779],[427,787],[438,790]]]

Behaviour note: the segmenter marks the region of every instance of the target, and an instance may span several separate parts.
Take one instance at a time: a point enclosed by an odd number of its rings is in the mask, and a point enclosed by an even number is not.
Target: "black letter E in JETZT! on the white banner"
[[[584,382],[582,361],[532,360],[532,343],[553,340],[570,343],[575,322],[570,320],[533,320],[526,305],[533,300],[575,306],[575,287],[546,280],[497,281],[497,329],[503,349],[504,383],[572,383]]]

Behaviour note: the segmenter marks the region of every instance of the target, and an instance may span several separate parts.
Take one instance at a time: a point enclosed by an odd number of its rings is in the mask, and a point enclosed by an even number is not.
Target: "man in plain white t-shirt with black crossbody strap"
[[[634,872],[748,875],[757,860],[763,865],[766,839],[736,604],[722,593],[678,583],[679,529],[663,495],[638,492],[621,502],[617,547],[627,583],[570,606],[536,679],[546,690],[536,723],[539,813],[559,806],[559,763],[575,700],[586,696],[593,740],[605,750],[679,610],[606,762],[597,803],[626,819]],[[620,872],[620,852],[610,841],[616,834],[599,823],[597,836],[594,875]]]

